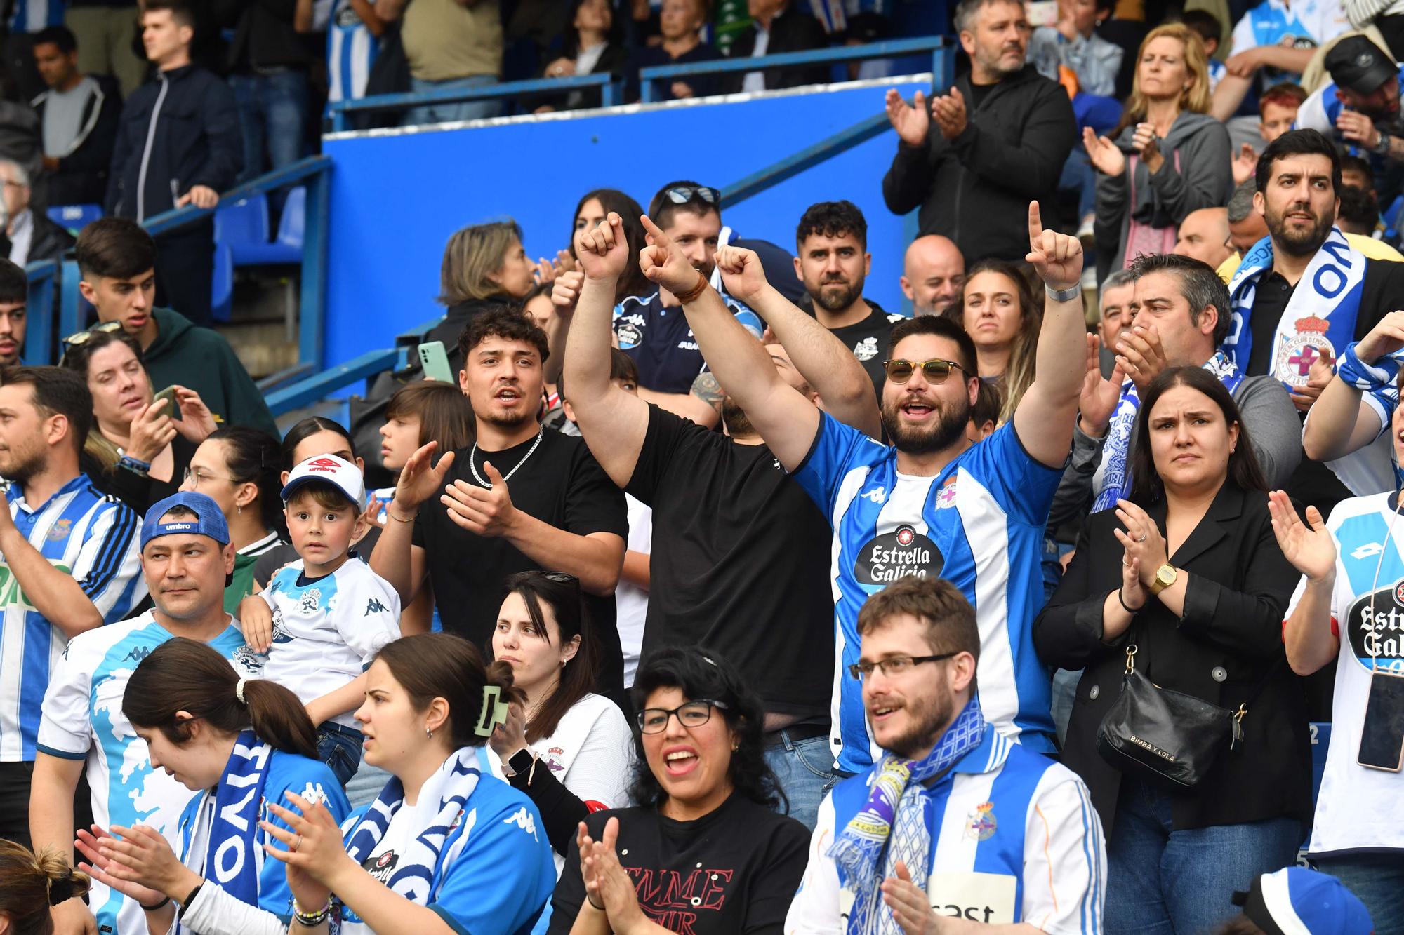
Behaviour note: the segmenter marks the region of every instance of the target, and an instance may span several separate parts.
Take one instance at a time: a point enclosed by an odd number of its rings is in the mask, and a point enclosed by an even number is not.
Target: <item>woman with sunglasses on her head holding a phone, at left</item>
[[[173,387],[156,400],[142,347],[121,329],[97,326],[63,340],[59,362],[87,380],[93,430],[79,466],[105,494],[138,514],[176,493],[191,456],[215,431],[199,393]]]

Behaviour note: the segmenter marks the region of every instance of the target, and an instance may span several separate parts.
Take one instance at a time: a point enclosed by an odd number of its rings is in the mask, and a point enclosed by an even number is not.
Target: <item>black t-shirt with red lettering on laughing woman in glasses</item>
[[[585,818],[590,837],[598,841],[611,817],[619,818],[619,863],[650,920],[670,932],[781,935],[804,876],[803,824],[734,793],[696,821],[674,821],[654,807],[595,811]],[[584,900],[571,837],[548,935],[567,935]]]

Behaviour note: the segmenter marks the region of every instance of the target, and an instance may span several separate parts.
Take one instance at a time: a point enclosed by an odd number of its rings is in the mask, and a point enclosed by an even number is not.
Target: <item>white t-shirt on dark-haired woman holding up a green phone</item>
[[[548,768],[591,811],[629,806],[629,761],[633,734],[623,712],[602,695],[585,695],[566,712],[556,731],[528,748],[536,768]],[[552,851],[556,876],[564,859]]]

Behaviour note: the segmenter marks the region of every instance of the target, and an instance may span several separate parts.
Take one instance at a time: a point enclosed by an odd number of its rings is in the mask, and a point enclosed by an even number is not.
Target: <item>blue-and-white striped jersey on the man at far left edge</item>
[[[146,597],[138,549],[142,521],[84,475],[63,484],[34,510],[20,484],[6,491],[10,515],[24,538],[58,569],[67,571],[102,615],[104,623],[126,616]],[[20,588],[0,555],[0,761],[34,760],[44,692],[67,646]]]

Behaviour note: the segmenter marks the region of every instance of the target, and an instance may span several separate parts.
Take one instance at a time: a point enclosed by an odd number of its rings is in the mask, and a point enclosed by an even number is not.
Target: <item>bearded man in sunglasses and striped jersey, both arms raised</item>
[[[1014,418],[972,445],[974,345],[948,319],[911,319],[892,333],[882,424],[894,444],[883,445],[819,411],[765,366],[764,348],[730,320],[715,292],[698,288],[681,251],[661,230],[650,233],[644,274],[685,296],[688,321],[722,386],[834,526],[828,577],[840,665],[856,661],[858,608],[869,594],[907,576],[945,577],[979,612],[984,719],[1052,752],[1050,682],[1033,651],[1032,623],[1043,604],[1043,526],[1087,373],[1077,239],[1045,230],[1038,202],[1029,204],[1025,258],[1043,278],[1047,306],[1038,378]],[[741,288],[748,263],[723,250],[717,265],[729,288]],[[841,737],[834,752],[838,768],[852,774],[878,751],[859,684],[840,670],[834,687]]]

